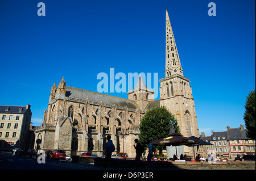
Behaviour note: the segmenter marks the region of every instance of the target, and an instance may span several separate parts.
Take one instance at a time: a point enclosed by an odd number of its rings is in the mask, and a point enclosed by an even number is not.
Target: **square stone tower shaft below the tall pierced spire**
[[[199,137],[195,102],[189,80],[181,75],[172,75],[160,80],[159,92],[160,106],[166,106],[176,117],[181,134],[185,137]],[[183,154],[192,153],[192,148],[188,146],[184,146],[183,150]]]

